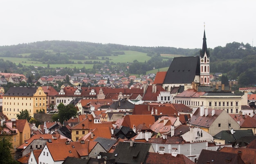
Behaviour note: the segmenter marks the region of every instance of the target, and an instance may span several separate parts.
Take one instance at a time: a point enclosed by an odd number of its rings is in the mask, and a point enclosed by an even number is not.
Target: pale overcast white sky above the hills
[[[1,0],[0,46],[44,40],[202,48],[256,41],[255,0]]]

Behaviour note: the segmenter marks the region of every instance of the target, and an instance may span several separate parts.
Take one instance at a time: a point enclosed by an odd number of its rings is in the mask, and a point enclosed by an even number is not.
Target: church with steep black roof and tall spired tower
[[[210,86],[210,62],[204,31],[203,47],[199,56],[173,58],[166,72],[163,88],[171,91],[174,87],[192,88],[192,82],[201,86]],[[163,77],[162,77],[163,78]]]

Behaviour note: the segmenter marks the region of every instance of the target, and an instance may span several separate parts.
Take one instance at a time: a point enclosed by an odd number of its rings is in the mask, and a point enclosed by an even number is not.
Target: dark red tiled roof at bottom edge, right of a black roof
[[[151,153],[148,152],[144,164],[195,164],[183,154],[178,154],[176,157],[171,153]]]

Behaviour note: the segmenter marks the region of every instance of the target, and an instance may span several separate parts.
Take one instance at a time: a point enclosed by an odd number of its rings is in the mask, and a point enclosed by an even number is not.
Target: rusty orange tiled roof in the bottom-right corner
[[[256,164],[256,149],[223,147],[220,150],[220,153],[226,152],[226,153],[233,153],[237,155],[238,151],[241,151],[241,159],[246,164]]]

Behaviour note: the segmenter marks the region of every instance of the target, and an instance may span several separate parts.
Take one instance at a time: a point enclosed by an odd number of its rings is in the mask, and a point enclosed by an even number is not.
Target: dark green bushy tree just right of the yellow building
[[[58,119],[60,122],[69,120],[72,116],[76,116],[76,107],[72,104],[65,106],[63,103],[57,106],[58,108]]]

